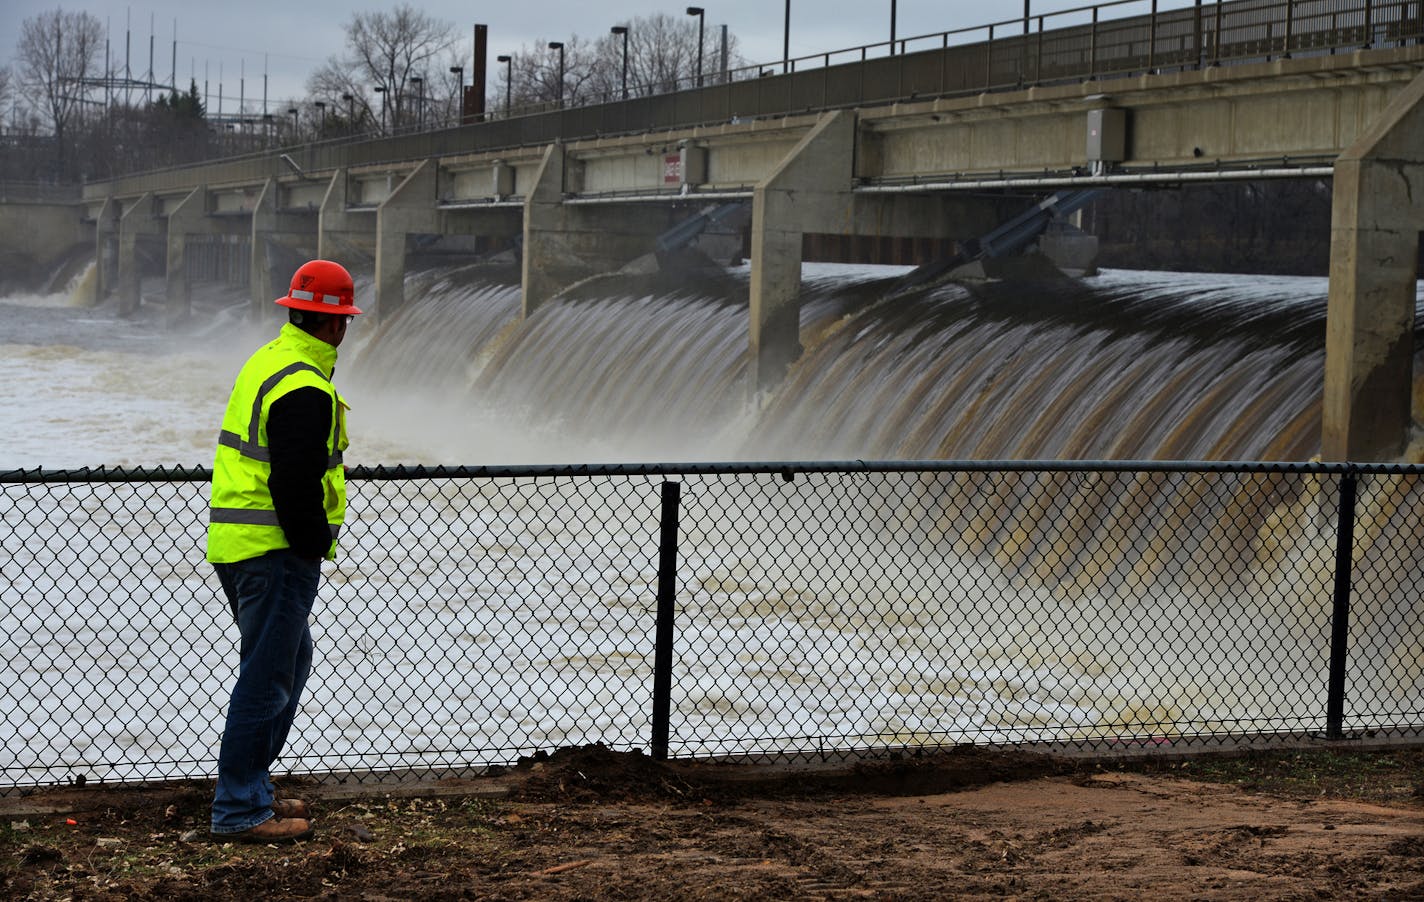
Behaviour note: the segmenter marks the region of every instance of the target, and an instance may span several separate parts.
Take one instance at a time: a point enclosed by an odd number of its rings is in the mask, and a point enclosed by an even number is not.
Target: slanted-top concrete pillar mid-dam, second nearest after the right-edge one
[[[802,235],[854,231],[854,113],[827,113],[752,194],[755,390],[780,383],[802,352]]]

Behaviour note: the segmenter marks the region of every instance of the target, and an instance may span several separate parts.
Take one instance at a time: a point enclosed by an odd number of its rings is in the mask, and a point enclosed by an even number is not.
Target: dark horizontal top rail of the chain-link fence
[[[1417,463],[1323,463],[1259,460],[792,460],[708,463],[578,463],[541,466],[357,466],[347,480],[558,479],[574,476],[780,476],[803,473],[1300,473],[1421,476]],[[83,467],[0,470],[0,483],[209,482],[206,467]]]

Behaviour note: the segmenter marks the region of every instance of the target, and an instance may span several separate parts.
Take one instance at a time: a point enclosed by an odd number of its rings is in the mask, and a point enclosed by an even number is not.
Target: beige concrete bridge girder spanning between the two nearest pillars
[[[1282,160],[1327,162],[1353,144],[1418,71],[1336,57],[1025,88],[863,111],[856,172],[1065,172],[1085,164],[1088,111],[1126,111],[1126,168]]]

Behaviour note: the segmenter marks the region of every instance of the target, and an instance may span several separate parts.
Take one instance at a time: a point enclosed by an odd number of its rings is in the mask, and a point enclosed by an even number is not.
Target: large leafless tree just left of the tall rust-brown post
[[[313,100],[347,110],[350,94],[369,117],[387,128],[412,124],[429,101],[430,88],[446,51],[454,44],[454,27],[422,10],[402,4],[389,13],[353,13],[346,23],[346,54],[332,57],[308,80]]]

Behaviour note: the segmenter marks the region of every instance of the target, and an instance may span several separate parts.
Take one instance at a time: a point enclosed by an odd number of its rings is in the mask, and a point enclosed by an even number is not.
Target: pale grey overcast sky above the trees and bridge
[[[1072,10],[1082,0],[1031,0],[1034,14]],[[1192,0],[1162,0],[1159,9],[1190,6]],[[0,13],[0,63],[14,60],[20,23],[61,4],[56,0],[4,0]],[[150,36],[155,81],[168,81],[174,67],[177,30],[178,83],[195,77],[216,93],[221,78],[226,95],[236,95],[238,78],[245,78],[245,95],[261,98],[263,70],[268,97],[278,103],[305,95],[306,76],[343,48],[343,24],[356,10],[390,10],[397,0],[140,0],[117,3],[66,0],[66,10],[93,13],[110,28],[112,64],[124,64],[128,34],[130,71],[135,78],[150,71]],[[417,9],[449,21],[473,36],[476,23],[490,27],[488,54],[494,57],[524,46],[543,46],[571,34],[597,38],[608,27],[654,13],[682,14],[688,4],[671,0],[419,0]],[[740,41],[750,63],[780,60],[786,0],[705,0],[708,30],[726,24]],[[896,0],[896,34],[911,37],[970,26],[983,26],[1022,16],[1020,0],[984,3],[974,0]],[[884,41],[890,37],[890,0],[790,0],[790,53],[810,56],[844,47]],[[1148,0],[1119,3],[1105,19],[1141,14]],[[1067,20],[1062,20],[1068,24]],[[1049,26],[1052,27],[1052,21]],[[463,40],[463,53],[473,57],[473,37]],[[468,81],[468,76],[466,76]],[[493,68],[491,68],[493,83]]]

